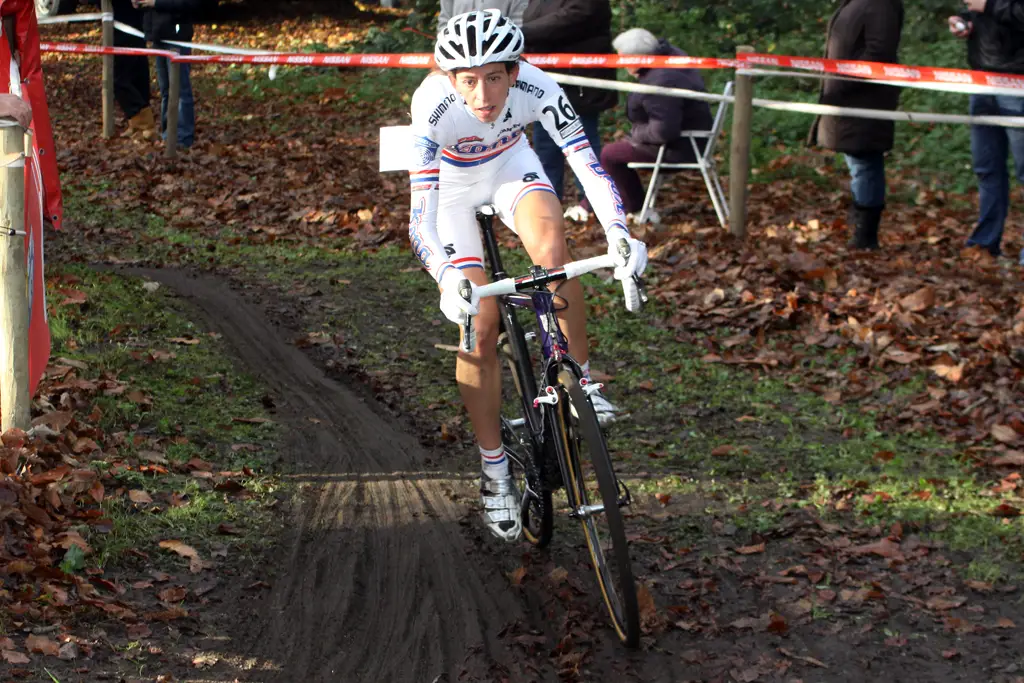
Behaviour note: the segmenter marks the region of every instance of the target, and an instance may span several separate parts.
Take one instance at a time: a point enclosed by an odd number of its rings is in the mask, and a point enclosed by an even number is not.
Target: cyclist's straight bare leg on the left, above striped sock
[[[482,268],[467,268],[462,274],[474,285],[489,280]],[[480,300],[480,314],[473,316],[476,348],[472,353],[459,351],[455,376],[459,393],[469,412],[476,441],[488,451],[502,445],[499,421],[502,404],[502,376],[498,364],[498,304],[493,298]]]

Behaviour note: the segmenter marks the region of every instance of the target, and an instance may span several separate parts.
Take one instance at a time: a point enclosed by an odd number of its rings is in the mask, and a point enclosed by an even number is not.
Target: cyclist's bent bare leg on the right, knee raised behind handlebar
[[[562,205],[557,197],[551,193],[530,193],[519,201],[514,218],[522,246],[534,263],[556,268],[572,260],[565,244]],[[590,349],[587,346],[587,305],[583,298],[583,285],[577,279],[568,280],[560,283],[557,291],[568,303],[566,309],[558,312],[558,319],[568,339],[569,353],[581,365],[585,364],[590,358]]]

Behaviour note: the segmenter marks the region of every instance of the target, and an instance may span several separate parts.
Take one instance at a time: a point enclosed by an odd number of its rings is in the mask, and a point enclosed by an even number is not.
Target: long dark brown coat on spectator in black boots
[[[825,58],[897,63],[902,31],[901,0],[843,0],[828,22]],[[892,112],[899,106],[899,91],[891,85],[825,79],[818,101]],[[858,155],[888,152],[894,137],[892,121],[822,116],[811,127],[810,141],[816,138],[826,150]]]

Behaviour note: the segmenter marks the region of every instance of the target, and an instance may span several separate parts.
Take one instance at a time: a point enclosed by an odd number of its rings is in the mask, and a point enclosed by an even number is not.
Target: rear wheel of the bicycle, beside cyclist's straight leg
[[[502,441],[515,457],[522,469],[522,477],[517,477],[522,490],[522,535],[530,544],[544,548],[551,543],[554,513],[551,503],[551,487],[542,471],[544,454],[532,436],[530,415],[532,400],[537,395],[537,380],[534,377],[529,349],[522,326],[515,308],[499,304],[505,334],[499,343],[502,360],[512,375],[515,400],[505,402],[503,413],[518,418],[502,418]],[[521,422],[521,424],[518,424]]]

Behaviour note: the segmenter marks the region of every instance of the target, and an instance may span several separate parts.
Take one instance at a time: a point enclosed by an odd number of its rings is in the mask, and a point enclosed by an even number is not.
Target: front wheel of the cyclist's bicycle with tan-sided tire
[[[608,608],[612,626],[620,639],[627,647],[636,647],[640,643],[640,607],[637,600],[636,583],[633,578],[633,562],[630,559],[629,544],[626,540],[626,527],[623,523],[622,511],[618,508],[618,483],[611,466],[611,456],[597,421],[597,414],[590,396],[580,384],[580,376],[570,366],[563,366],[558,373],[558,383],[568,397],[568,404],[553,411],[557,414],[556,436],[561,441],[566,470],[571,481],[565,482],[566,494],[570,506],[579,509],[589,505],[589,495],[583,478],[581,454],[574,429],[570,428],[572,417],[570,408],[575,411],[575,425],[579,427],[579,437],[586,442],[590,462],[597,476],[598,490],[603,504],[603,515],[607,524],[608,537],[611,541],[611,553],[614,567],[617,571],[617,582],[604,557],[601,540],[594,522],[594,515],[581,516],[587,548],[590,551],[591,562],[601,589],[601,596]],[[573,501],[573,499],[577,499]],[[617,586],[615,585],[617,583]]]

